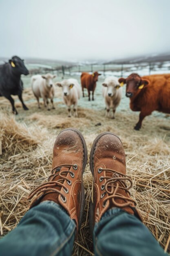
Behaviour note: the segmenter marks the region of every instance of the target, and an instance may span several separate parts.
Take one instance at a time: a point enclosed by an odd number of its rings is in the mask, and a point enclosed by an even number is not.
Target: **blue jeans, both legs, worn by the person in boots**
[[[0,240],[0,256],[70,256],[75,222],[60,205],[44,201],[30,209]],[[96,256],[163,256],[163,249],[138,218],[118,208],[95,224]]]

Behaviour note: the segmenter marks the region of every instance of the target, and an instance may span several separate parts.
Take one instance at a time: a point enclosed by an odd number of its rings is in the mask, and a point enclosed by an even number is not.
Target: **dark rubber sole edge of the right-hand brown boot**
[[[93,154],[94,154],[94,151],[95,151],[95,147],[96,147],[96,144],[97,144],[97,142],[98,142],[98,140],[102,137],[102,136],[104,136],[104,135],[106,135],[106,134],[111,134],[111,135],[114,135],[114,136],[116,136],[120,141],[121,141],[121,139],[119,138],[119,136],[117,136],[115,133],[113,133],[113,132],[102,132],[102,133],[100,133],[96,138],[95,138],[95,140],[93,141],[93,146],[92,146],[92,148],[91,148],[91,153],[90,153],[90,169],[91,169],[91,173],[92,173],[92,175],[94,176],[94,166],[93,166]],[[121,144],[122,144],[122,142],[121,142]],[[122,144],[123,145],[123,144]],[[92,186],[93,186],[93,184],[92,184]],[[92,195],[93,196],[93,195]],[[94,223],[94,220],[93,220],[93,212],[94,212],[94,207],[93,207],[94,205],[93,205],[93,202],[92,202],[92,200],[91,200],[91,202],[90,202],[90,209],[89,209],[89,228],[90,228],[90,233],[91,233],[91,238],[93,239],[93,229],[94,229],[94,226],[95,226],[95,223]]]

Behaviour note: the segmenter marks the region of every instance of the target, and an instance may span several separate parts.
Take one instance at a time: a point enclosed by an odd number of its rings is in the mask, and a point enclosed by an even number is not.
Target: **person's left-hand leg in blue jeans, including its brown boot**
[[[0,241],[0,256],[71,255],[75,231],[84,212],[83,172],[87,147],[76,129],[65,129],[53,147],[48,182],[33,190],[31,209],[16,229]]]

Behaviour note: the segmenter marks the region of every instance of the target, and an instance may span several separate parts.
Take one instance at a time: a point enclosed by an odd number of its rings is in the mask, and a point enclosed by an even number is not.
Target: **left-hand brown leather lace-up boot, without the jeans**
[[[34,189],[28,199],[37,197],[31,207],[51,200],[60,204],[81,227],[85,194],[82,181],[87,162],[87,146],[79,130],[65,129],[57,136],[53,147],[52,171],[48,182]]]

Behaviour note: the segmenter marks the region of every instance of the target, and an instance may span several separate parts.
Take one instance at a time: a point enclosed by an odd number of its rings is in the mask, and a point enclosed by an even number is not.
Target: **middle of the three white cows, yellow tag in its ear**
[[[62,97],[68,107],[68,117],[71,117],[71,105],[73,105],[74,116],[78,117],[77,104],[81,94],[81,87],[77,79],[66,79],[62,82],[57,82],[56,85],[62,87]]]

